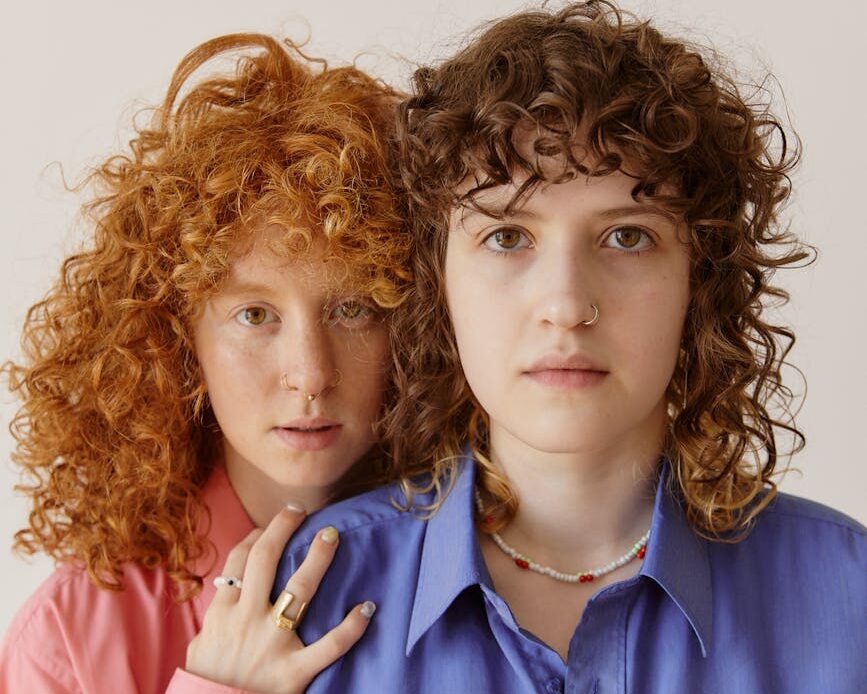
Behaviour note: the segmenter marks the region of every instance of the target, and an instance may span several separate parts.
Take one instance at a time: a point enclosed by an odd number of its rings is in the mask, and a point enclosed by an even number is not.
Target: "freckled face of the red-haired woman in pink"
[[[275,254],[280,233],[257,233],[195,326],[229,477],[251,503],[279,490],[292,497],[282,503],[327,498],[373,444],[383,389],[375,304],[342,291],[315,250]]]

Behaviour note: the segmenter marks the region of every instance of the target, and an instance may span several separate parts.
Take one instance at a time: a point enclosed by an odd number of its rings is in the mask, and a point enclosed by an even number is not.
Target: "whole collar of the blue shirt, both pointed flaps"
[[[464,589],[491,585],[474,530],[476,471],[471,456],[459,461],[455,476],[451,491],[427,521],[406,640],[407,656]],[[698,638],[702,655],[707,656],[713,616],[707,543],[690,528],[672,489],[665,462],[640,574],[658,583],[677,605]]]

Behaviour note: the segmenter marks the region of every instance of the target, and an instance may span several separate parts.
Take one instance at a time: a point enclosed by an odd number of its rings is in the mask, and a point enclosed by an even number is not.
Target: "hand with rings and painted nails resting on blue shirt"
[[[305,646],[295,631],[280,628],[268,600],[277,562],[304,513],[285,508],[264,530],[256,529],[226,559],[224,576],[243,577],[243,587],[220,586],[202,630],[187,648],[186,669],[200,677],[257,692],[303,692],[313,678],[346,653],[364,634],[375,605],[354,607],[315,643]],[[301,566],[286,584],[295,596],[285,613],[296,615],[312,600],[339,538],[334,528],[316,535]]]

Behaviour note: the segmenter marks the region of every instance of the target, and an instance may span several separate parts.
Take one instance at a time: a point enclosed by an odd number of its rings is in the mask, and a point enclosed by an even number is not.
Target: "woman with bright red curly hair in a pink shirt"
[[[6,635],[0,689],[302,691],[361,637],[370,602],[295,633],[333,527],[268,592],[307,512],[385,470],[395,104],[354,68],[223,36],[93,172],[92,239],[5,367],[33,503],[16,545],[60,568]]]

